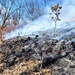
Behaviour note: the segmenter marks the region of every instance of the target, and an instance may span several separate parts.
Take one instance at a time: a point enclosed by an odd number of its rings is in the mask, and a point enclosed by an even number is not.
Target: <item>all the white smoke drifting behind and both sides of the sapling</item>
[[[57,4],[57,2],[55,2]],[[55,5],[52,4],[52,5]],[[61,21],[57,23],[57,27],[60,28],[66,22],[74,21],[75,20],[75,0],[63,0],[62,3],[59,3],[62,6],[60,18]],[[54,23],[50,20],[50,6],[46,6],[45,8],[45,15],[39,17],[35,21],[23,26],[11,33],[6,34],[5,39],[10,39],[16,36],[23,36],[29,35],[36,31],[47,30],[49,28],[54,28]],[[65,28],[65,26],[64,26]],[[9,36],[10,35],[10,36]]]

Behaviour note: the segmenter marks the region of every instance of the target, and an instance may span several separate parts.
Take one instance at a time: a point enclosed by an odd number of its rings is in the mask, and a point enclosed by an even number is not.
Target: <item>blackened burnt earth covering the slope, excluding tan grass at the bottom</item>
[[[0,75],[5,69],[29,60],[41,61],[39,69],[52,67],[52,75],[75,75],[75,42],[67,43],[71,36],[60,41],[46,37],[23,36],[4,41],[0,47],[0,64],[4,64],[0,66]]]

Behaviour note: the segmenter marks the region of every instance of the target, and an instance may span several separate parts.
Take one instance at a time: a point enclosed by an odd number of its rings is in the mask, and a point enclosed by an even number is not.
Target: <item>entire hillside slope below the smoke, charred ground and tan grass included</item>
[[[4,41],[0,75],[75,75],[74,27],[58,31],[60,35],[47,30]]]

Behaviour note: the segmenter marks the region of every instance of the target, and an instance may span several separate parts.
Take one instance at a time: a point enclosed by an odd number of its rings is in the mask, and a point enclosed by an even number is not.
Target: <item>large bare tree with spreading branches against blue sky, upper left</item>
[[[18,4],[17,0],[0,0],[0,4],[4,8],[4,13],[1,13],[0,15],[2,15],[3,17],[2,26],[5,26],[8,18],[10,18],[11,15],[15,14],[15,11],[19,11],[21,9],[21,4]],[[18,4],[18,6],[16,6],[16,4]]]

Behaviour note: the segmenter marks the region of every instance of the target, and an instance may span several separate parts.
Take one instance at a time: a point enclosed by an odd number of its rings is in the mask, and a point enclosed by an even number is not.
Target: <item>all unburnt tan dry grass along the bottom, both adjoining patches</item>
[[[29,60],[27,62],[21,62],[10,69],[5,69],[4,72],[0,75],[20,75],[23,72],[30,72],[30,75],[52,75],[50,69],[41,69],[38,72],[32,72],[35,68],[38,67],[40,61],[38,60]]]

